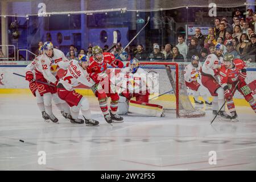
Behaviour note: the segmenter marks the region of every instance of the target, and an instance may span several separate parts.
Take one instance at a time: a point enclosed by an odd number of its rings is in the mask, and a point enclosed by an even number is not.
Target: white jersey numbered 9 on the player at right
[[[213,69],[220,69],[223,57],[218,58],[214,53],[207,56],[202,67],[202,72],[214,76]]]

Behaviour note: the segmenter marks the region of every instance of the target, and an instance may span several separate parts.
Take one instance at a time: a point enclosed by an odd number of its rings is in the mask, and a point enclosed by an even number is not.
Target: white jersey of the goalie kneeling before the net
[[[141,93],[152,88],[152,77],[142,68],[138,68],[136,73],[131,73],[130,67],[122,68],[121,72],[115,77],[118,86],[122,90],[133,90],[134,93]]]

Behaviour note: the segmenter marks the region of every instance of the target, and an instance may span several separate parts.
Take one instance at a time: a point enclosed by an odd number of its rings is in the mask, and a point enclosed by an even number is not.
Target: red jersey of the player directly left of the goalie
[[[104,78],[108,76],[108,74],[106,73],[108,64],[112,65],[112,67],[117,67],[117,65],[113,63],[113,60],[115,59],[115,56],[113,55],[113,53],[110,53],[110,52],[102,53],[101,63],[97,63],[95,59],[96,58],[94,56],[90,57],[90,64],[87,67],[87,72],[89,74],[90,73],[98,74],[99,76]]]

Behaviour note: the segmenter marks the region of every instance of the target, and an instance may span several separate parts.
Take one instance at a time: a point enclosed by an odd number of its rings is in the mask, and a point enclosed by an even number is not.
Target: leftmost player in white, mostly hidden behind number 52
[[[39,47],[39,56],[42,54],[43,54],[43,46],[40,46]],[[35,59],[30,64],[28,64],[27,67],[25,68],[26,80],[30,82],[30,85],[29,85],[30,90],[31,90],[32,94],[36,97],[36,103],[37,103],[40,111],[42,112],[42,117],[44,119],[49,119],[49,116],[46,113],[46,108],[44,107],[43,97],[40,96],[38,88],[36,86],[36,82],[33,81],[33,79],[35,78],[35,67],[36,67],[36,63],[38,62],[38,57],[35,57]]]

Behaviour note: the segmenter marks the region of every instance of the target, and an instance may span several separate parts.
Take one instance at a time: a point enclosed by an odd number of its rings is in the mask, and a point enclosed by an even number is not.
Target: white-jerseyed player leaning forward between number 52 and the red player
[[[71,117],[69,117],[71,122],[85,122],[87,126],[98,126],[99,122],[91,117],[88,100],[73,89],[74,86],[79,84],[89,87],[94,85],[94,81],[90,79],[86,72],[88,65],[89,61],[85,55],[79,55],[79,61],[71,60],[65,75],[57,84],[57,93],[71,107]],[[80,109],[85,121],[78,118]]]

